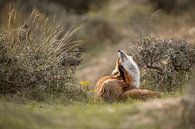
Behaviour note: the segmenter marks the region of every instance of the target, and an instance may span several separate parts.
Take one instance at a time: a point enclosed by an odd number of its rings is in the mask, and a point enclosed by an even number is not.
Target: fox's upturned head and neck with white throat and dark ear
[[[112,72],[112,76],[120,76],[130,85],[139,87],[140,71],[137,63],[132,56],[127,55],[123,50],[118,50],[117,54],[116,67]]]

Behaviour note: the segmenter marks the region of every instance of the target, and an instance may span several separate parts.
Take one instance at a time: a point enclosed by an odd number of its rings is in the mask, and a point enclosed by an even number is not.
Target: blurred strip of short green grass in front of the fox
[[[3,129],[163,129],[181,119],[178,98],[126,103],[40,103],[0,101]],[[166,113],[166,114],[165,114]],[[179,115],[178,115],[179,114]],[[175,122],[177,121],[177,122]]]

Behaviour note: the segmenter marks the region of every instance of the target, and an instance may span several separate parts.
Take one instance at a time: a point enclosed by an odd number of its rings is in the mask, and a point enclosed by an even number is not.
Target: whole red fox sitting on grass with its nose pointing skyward
[[[110,76],[102,77],[95,86],[95,100],[125,100],[128,97],[160,97],[159,92],[140,89],[140,70],[137,63],[123,50],[118,50],[115,69]]]

